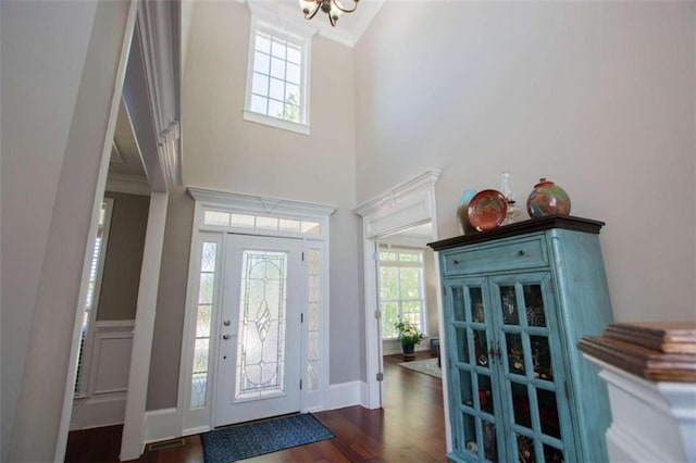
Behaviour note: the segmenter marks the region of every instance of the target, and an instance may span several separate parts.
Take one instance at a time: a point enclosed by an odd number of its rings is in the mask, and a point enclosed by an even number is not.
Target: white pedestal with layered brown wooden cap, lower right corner
[[[696,324],[616,323],[579,347],[609,389],[611,462],[696,462]]]

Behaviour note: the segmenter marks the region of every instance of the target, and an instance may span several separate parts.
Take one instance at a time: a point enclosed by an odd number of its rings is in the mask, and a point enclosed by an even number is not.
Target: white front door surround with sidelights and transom
[[[302,389],[299,392],[300,411],[324,410],[328,403],[330,371],[328,225],[330,216],[336,208],[199,187],[188,187],[188,191],[196,201],[196,208],[187,310],[184,317],[177,408],[172,409],[167,416],[179,421],[179,435],[183,436],[204,433],[226,421],[216,416],[215,402],[222,393],[219,395],[215,389],[225,388],[219,386],[219,383],[224,383],[224,379],[219,380],[219,376],[223,375],[219,370],[220,361],[225,355],[221,352],[226,349],[222,346],[226,340],[221,336],[227,334],[231,336],[227,340],[232,341],[232,333],[223,333],[224,322],[229,321],[229,327],[236,326],[233,325],[232,317],[223,318],[222,313],[223,297],[227,298],[226,293],[222,293],[222,288],[226,285],[226,279],[231,278],[226,276],[229,264],[225,259],[225,255],[229,254],[226,248],[232,246],[227,239],[231,234],[278,238],[281,241],[295,240],[300,243],[304,260],[300,263],[297,288],[304,323],[296,330],[300,336],[299,342],[290,346],[299,351],[299,378],[291,381],[299,384],[299,379],[302,380]],[[208,292],[204,295],[199,291],[201,278],[210,279]],[[197,321],[202,313],[201,308],[203,312],[209,310],[201,303],[210,306],[210,313]],[[197,324],[201,321],[206,328],[197,330]],[[199,345],[204,345],[203,350],[199,349]],[[232,356],[235,354],[232,353]],[[227,355],[228,359],[222,360],[229,360],[229,353]],[[166,425],[166,428],[172,429],[170,425]],[[178,431],[172,430],[166,435],[159,433],[157,436],[162,440],[175,433]],[[151,440],[154,440],[154,437]]]

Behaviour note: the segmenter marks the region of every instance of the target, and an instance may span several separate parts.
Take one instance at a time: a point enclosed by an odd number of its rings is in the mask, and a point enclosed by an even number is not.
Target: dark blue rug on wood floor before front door
[[[206,463],[231,463],[332,437],[319,420],[303,413],[214,429],[200,439]]]

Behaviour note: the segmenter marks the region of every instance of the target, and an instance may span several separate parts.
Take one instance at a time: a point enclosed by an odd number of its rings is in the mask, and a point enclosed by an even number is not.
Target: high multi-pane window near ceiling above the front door
[[[309,134],[310,50],[311,33],[252,20],[246,121]]]

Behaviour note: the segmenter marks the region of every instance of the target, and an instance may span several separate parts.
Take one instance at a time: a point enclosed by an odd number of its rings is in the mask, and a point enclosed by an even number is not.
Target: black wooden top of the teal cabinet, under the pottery
[[[593,221],[589,218],[575,217],[572,215],[548,215],[540,218],[531,218],[529,221],[517,222],[510,225],[504,225],[486,232],[480,232],[470,235],[456,236],[435,242],[428,242],[427,246],[435,251],[442,251],[449,248],[471,245],[474,242],[485,242],[499,238],[513,237],[533,232],[542,232],[551,228],[564,228],[576,232],[585,232],[599,234],[605,225],[604,222]]]

